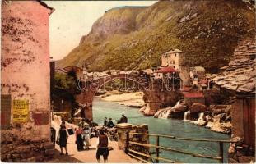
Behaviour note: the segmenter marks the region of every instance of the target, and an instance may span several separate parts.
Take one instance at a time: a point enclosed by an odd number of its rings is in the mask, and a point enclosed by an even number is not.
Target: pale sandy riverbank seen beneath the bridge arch
[[[120,105],[128,106],[128,107],[143,107],[145,105],[143,101],[143,93],[142,92],[133,92],[133,93],[122,93],[119,91],[108,91],[103,95],[97,96],[103,101],[107,102],[115,102]]]

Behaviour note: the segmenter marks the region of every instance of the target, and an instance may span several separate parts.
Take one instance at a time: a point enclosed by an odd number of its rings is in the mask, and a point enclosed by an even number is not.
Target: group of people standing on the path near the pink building
[[[86,123],[85,120],[82,120],[78,124],[78,128],[75,132],[76,134],[76,144],[77,144],[77,150],[85,150],[89,149],[91,146],[90,138],[91,138],[91,129],[88,123]],[[67,139],[68,139],[68,132],[65,125],[65,121],[62,121],[62,124],[60,125],[60,129],[58,131],[58,137],[57,142],[60,146],[61,153],[60,155],[63,155],[63,148],[65,148],[66,155],[67,153]],[[97,144],[97,152],[96,152],[96,159],[98,162],[100,162],[100,156],[103,156],[104,162],[107,162],[108,156],[109,156],[109,138],[105,134],[104,128],[101,128],[99,130],[98,134],[99,140]]]

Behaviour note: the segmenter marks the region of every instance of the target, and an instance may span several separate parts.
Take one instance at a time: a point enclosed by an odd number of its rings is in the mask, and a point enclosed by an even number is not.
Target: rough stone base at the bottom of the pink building
[[[19,139],[18,131],[2,131],[2,162],[45,162],[54,155],[49,139]]]

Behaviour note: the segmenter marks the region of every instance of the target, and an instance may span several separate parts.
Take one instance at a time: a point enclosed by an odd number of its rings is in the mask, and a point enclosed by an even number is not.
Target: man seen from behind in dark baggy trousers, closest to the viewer
[[[103,129],[100,129],[99,144],[96,152],[96,159],[100,163],[100,156],[103,156],[104,162],[108,161],[109,157],[109,139]]]

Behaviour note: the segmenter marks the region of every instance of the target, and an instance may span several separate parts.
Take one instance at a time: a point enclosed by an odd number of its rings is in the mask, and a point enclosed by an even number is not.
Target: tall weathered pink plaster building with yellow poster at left
[[[40,162],[53,153],[49,107],[53,11],[40,1],[2,2],[2,162]]]

